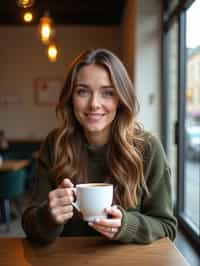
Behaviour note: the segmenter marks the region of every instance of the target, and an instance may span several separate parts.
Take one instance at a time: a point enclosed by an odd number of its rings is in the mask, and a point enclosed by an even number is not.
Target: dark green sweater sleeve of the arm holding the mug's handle
[[[27,237],[43,243],[55,240],[64,228],[63,225],[54,223],[47,205],[48,194],[54,188],[49,173],[52,149],[53,132],[48,135],[41,147],[35,171],[32,201],[22,216],[22,227]]]

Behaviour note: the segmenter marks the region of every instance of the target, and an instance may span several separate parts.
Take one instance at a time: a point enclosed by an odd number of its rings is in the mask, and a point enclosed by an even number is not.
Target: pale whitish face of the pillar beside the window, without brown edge
[[[160,134],[161,14],[159,0],[137,0],[135,86],[140,102],[139,120]]]

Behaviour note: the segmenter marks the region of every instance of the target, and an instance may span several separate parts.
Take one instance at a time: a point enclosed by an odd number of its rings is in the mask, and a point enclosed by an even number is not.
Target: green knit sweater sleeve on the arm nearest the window
[[[176,236],[173,215],[171,171],[159,139],[148,135],[144,154],[144,175],[150,195],[141,194],[136,208],[119,207],[122,227],[115,236],[123,243],[150,243],[158,238]]]

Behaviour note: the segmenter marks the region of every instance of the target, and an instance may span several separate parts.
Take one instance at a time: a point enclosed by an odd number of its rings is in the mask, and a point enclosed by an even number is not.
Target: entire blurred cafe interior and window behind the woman
[[[1,236],[23,235],[20,213],[40,144],[58,125],[55,105],[67,65],[82,50],[102,47],[125,64],[138,119],[162,140],[172,168],[176,245],[199,265],[199,14],[200,0],[1,1]]]

